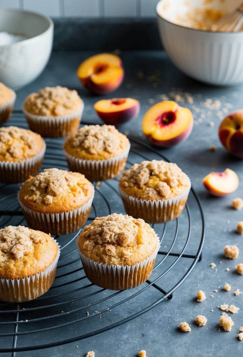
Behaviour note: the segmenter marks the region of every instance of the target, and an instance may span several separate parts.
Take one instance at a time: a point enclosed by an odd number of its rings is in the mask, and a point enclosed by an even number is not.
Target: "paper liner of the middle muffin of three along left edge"
[[[29,176],[36,176],[41,168],[46,151],[46,144],[39,154],[20,162],[0,161],[0,182],[20,183],[26,181]]]

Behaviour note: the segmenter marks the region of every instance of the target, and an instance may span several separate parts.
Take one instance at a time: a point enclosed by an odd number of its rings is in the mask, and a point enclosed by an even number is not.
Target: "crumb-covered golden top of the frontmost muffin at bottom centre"
[[[82,253],[108,265],[134,265],[148,258],[156,249],[155,231],[141,218],[113,213],[95,218],[78,238]]]

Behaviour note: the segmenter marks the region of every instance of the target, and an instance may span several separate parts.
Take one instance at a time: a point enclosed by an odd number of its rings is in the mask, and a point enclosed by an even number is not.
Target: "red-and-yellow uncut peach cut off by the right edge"
[[[229,114],[221,122],[218,135],[223,146],[243,159],[243,109]]]

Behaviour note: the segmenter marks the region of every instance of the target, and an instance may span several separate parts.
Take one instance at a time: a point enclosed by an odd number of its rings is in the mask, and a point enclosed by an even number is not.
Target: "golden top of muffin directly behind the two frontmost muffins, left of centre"
[[[45,213],[68,212],[84,205],[94,194],[91,182],[78,172],[45,169],[25,181],[20,201],[30,210]]]

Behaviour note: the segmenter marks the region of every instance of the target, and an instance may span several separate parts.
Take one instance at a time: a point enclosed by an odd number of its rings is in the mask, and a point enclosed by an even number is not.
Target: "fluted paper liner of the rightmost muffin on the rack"
[[[179,217],[186,205],[190,189],[191,181],[190,186],[182,195],[168,200],[152,201],[129,196],[119,185],[126,213],[134,218],[142,218],[147,223],[163,223]]]

